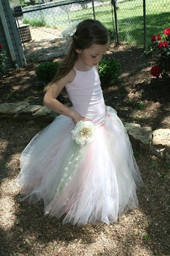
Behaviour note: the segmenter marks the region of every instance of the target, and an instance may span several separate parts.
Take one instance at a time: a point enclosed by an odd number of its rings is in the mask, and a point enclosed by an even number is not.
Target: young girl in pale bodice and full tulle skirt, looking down
[[[23,200],[43,198],[45,213],[64,214],[64,224],[109,224],[138,206],[142,180],[124,125],[104,104],[97,69],[108,31],[91,19],[72,29],[65,31],[69,51],[44,97],[45,106],[61,115],[22,152],[17,183]],[[73,108],[56,99],[64,86]]]

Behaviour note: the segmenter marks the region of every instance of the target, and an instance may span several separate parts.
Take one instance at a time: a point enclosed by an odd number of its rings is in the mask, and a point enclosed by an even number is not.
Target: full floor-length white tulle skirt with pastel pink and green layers
[[[124,125],[110,108],[84,147],[71,138],[74,126],[60,115],[24,149],[17,178],[22,200],[43,198],[45,214],[65,214],[63,224],[116,222],[138,206],[136,186],[142,184]]]

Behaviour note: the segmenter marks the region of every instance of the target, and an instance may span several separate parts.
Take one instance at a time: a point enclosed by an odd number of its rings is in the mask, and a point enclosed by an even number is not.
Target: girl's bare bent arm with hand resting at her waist
[[[50,88],[45,93],[43,101],[47,108],[50,108],[61,115],[71,117],[73,119],[73,122],[76,124],[80,120],[87,121],[89,119],[81,116],[74,109],[67,108],[66,106],[64,106],[64,104],[60,103],[59,100],[56,99],[62,88],[64,88],[67,83],[71,83],[71,81],[73,81],[75,75],[75,70],[72,69],[69,74],[67,74],[65,77],[62,77],[62,79],[60,79],[56,84],[52,84],[52,86],[50,86]]]

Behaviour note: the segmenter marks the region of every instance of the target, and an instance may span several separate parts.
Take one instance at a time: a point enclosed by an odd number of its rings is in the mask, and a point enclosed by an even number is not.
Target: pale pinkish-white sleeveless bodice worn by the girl
[[[89,118],[95,125],[103,122],[106,106],[96,67],[87,72],[76,70],[76,76],[71,83],[66,84],[66,90],[73,109],[81,116]]]

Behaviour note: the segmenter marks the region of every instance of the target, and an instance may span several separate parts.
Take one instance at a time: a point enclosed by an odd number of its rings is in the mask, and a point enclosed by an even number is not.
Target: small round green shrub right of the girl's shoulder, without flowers
[[[112,83],[120,75],[120,61],[114,58],[103,58],[99,62],[99,77],[101,82]]]

